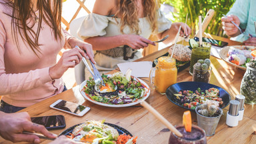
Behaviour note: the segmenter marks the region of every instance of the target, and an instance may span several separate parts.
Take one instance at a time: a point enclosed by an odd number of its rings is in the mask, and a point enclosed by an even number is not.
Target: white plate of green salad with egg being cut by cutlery
[[[149,97],[149,85],[141,79],[123,75],[121,72],[101,77],[105,86],[96,88],[93,78],[83,81],[80,85],[81,94],[92,103],[105,107],[129,107]]]

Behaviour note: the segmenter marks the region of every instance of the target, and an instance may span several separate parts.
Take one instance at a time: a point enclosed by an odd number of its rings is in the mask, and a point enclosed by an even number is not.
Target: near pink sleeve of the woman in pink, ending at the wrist
[[[4,26],[4,15],[3,12],[0,13],[0,95],[33,89],[51,81],[49,67],[36,69],[27,73],[5,73],[4,45],[7,34]]]

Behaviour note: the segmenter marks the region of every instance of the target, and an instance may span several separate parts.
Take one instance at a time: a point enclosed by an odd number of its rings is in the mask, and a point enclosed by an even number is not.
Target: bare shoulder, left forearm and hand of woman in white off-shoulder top
[[[111,15],[113,8],[117,6],[117,1],[113,0],[96,0],[93,7],[93,13],[97,15]],[[106,22],[107,23],[107,22]],[[83,25],[82,25],[83,26]],[[145,39],[139,35],[115,35],[113,37],[89,37],[84,40],[93,45],[94,50],[107,50],[119,47],[121,45],[129,45],[133,49],[147,47],[148,44],[155,45],[149,39]]]

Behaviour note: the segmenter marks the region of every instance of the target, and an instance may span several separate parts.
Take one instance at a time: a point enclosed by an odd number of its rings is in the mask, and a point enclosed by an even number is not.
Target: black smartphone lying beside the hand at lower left
[[[65,117],[63,115],[31,117],[31,121],[33,123],[44,125],[48,130],[64,129],[66,127]]]

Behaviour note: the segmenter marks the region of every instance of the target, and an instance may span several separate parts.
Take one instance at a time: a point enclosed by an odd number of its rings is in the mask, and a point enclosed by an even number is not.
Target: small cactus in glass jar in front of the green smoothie
[[[211,76],[210,59],[199,59],[193,66],[193,81],[209,83]]]

